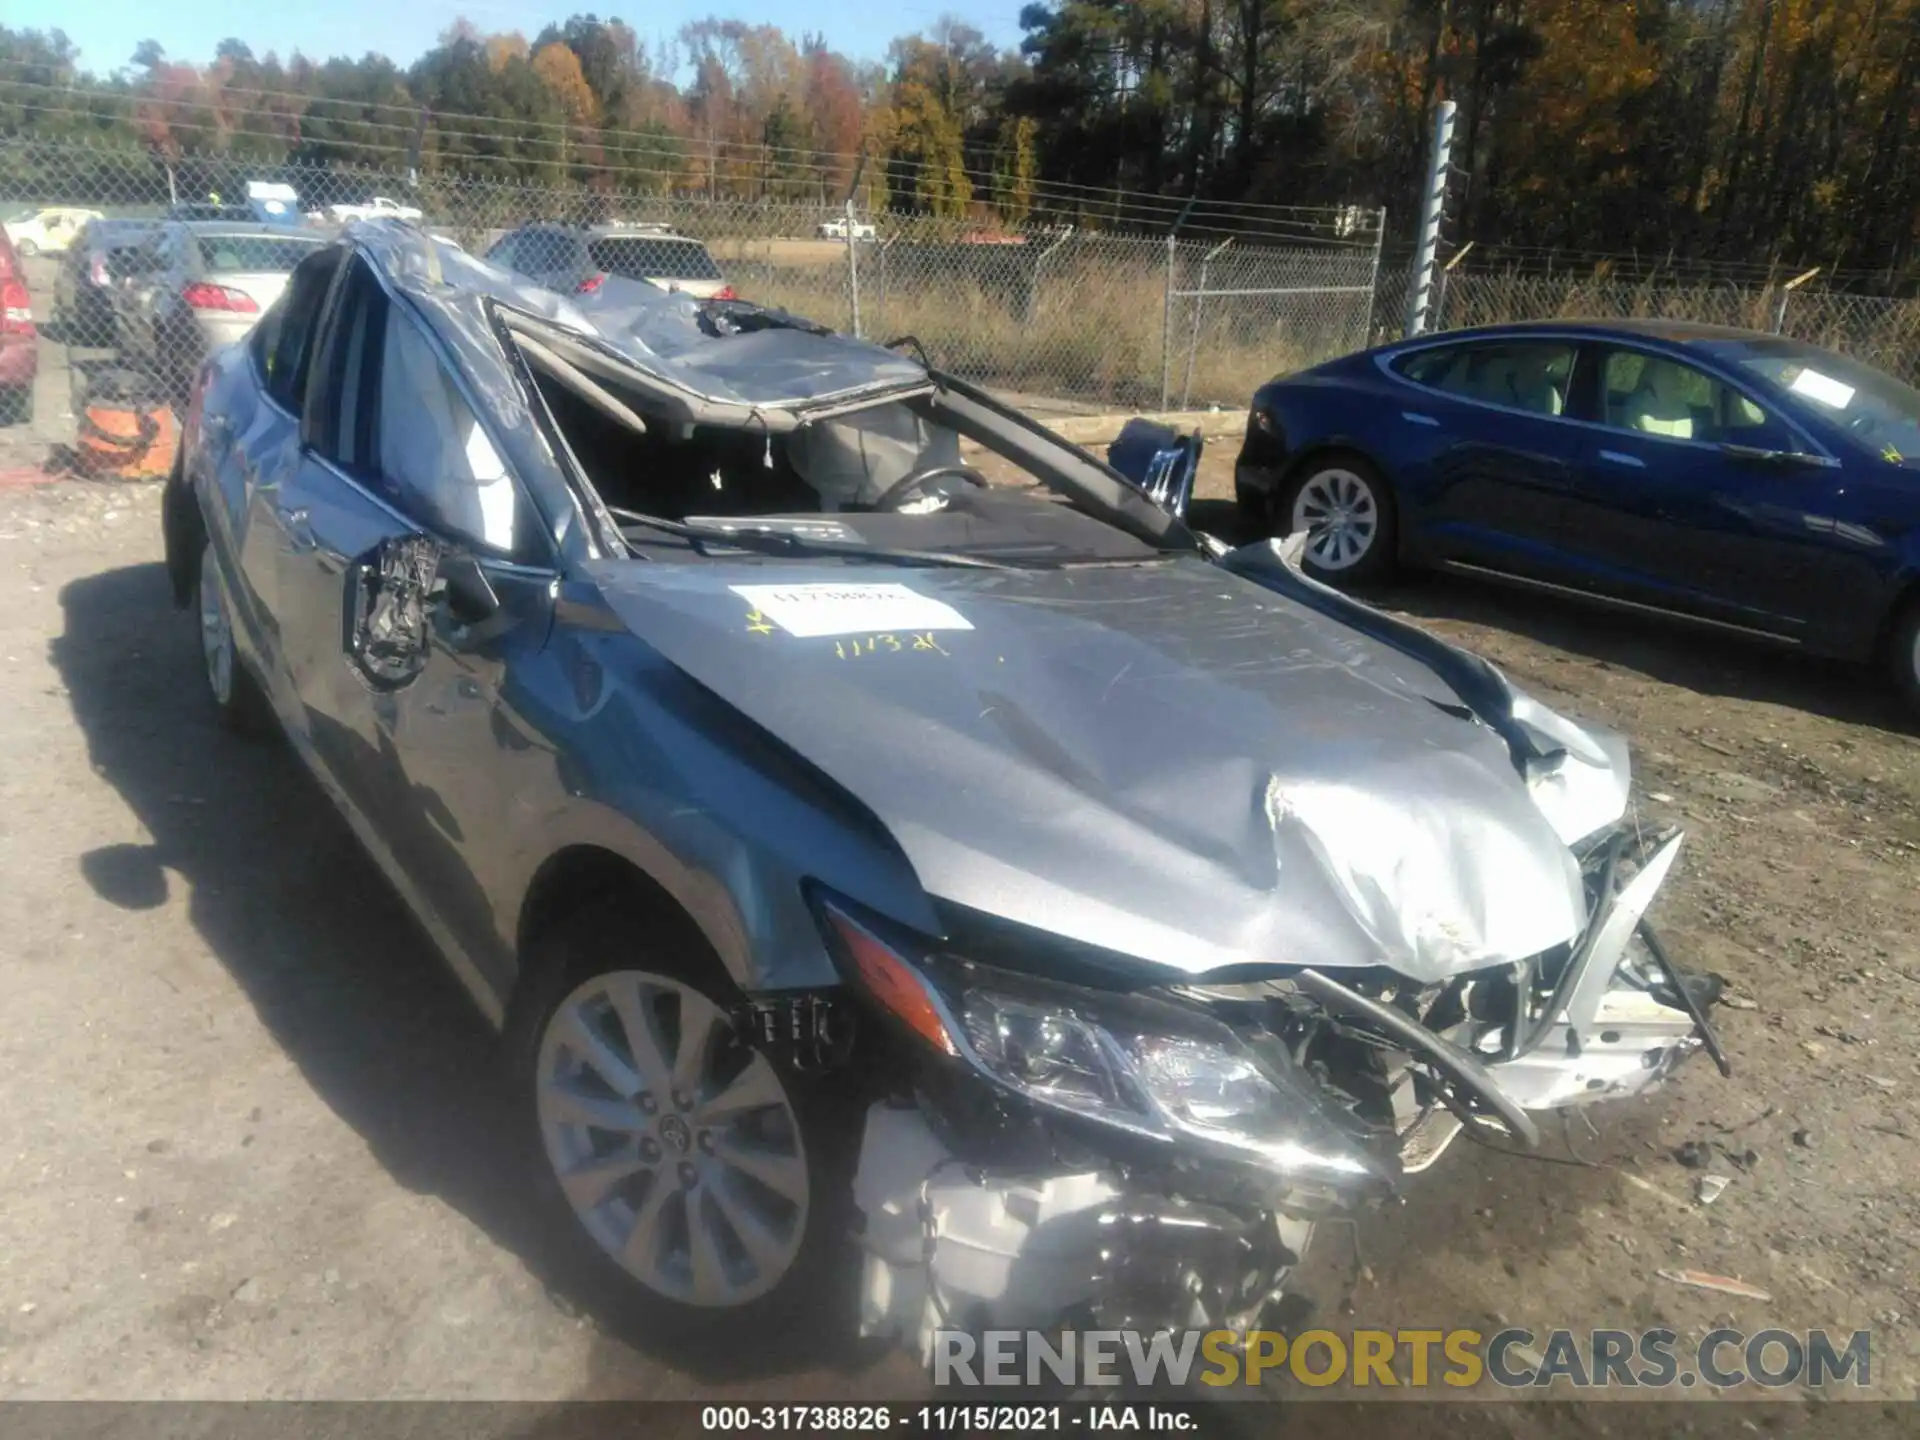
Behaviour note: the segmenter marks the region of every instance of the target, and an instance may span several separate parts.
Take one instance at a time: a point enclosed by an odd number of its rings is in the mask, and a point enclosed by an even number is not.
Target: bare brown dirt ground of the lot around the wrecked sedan
[[[488,1031],[290,755],[213,726],[157,488],[13,474],[0,1398],[924,1394],[828,1300],[808,1334],[726,1356],[582,1311],[515,1200]],[[1657,918],[1732,981],[1734,1077],[1697,1060],[1567,1164],[1461,1142],[1357,1225],[1357,1267],[1356,1236],[1323,1231],[1317,1315],[1872,1329],[1872,1394],[1920,1398],[1907,718],[1843,668],[1644,622],[1438,580],[1386,603],[1634,737],[1642,814],[1692,835]],[[1711,1208],[1686,1140],[1732,1181]],[[1772,1300],[1657,1277],[1676,1267]]]

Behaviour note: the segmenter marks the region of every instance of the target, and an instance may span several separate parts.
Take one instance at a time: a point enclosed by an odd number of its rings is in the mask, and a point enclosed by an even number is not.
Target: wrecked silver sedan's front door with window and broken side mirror
[[[545,643],[551,540],[455,371],[363,257],[340,280],[305,432],[305,545],[282,599],[315,762],[459,947],[486,952],[503,797],[532,762],[503,691]]]

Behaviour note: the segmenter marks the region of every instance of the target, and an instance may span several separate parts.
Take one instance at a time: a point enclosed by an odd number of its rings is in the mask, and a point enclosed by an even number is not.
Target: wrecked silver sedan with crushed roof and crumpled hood
[[[1235,1327],[1319,1217],[1644,1091],[1715,996],[1622,741],[1196,534],[1190,461],[371,223],[205,367],[167,557],[219,714],[507,1033],[609,1284]]]

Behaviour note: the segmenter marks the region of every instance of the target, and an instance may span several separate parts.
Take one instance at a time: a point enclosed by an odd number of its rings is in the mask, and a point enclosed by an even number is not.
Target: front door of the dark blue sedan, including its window
[[[1841,470],[1797,426],[1705,367],[1626,342],[1594,348],[1594,380],[1567,507],[1580,588],[1799,636],[1822,595],[1853,584],[1830,524]]]

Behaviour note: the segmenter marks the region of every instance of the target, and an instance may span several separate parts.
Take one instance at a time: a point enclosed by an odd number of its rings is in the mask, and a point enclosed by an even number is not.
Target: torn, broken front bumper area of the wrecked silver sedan
[[[1286,1016],[1275,1031],[1321,1081],[1325,1108],[1377,1096],[1380,1165],[1350,1185],[1177,1142],[1160,1154],[1137,1137],[1104,1144],[1098,1125],[1046,1116],[981,1077],[956,1081],[950,1066],[912,1098],[876,1104],[854,1181],[862,1329],[922,1359],[941,1329],[1252,1329],[1284,1294],[1317,1219],[1380,1194],[1380,1173],[1428,1167],[1467,1125],[1536,1144],[1534,1116],[1638,1094],[1703,1044],[1724,1069],[1703,1014],[1711,998],[1645,924],[1678,851],[1678,835],[1597,851],[1594,920],[1551,962],[1417,995],[1296,972],[1188,996]],[[1636,870],[1617,885],[1626,866]],[[1288,1029],[1302,1014],[1313,1029]],[[1342,1054],[1359,1056],[1352,1073]]]

